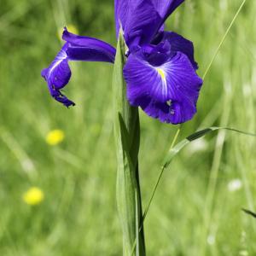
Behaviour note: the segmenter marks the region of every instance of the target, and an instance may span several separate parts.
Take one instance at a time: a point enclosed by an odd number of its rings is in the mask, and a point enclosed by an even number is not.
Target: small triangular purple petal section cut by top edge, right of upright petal
[[[158,11],[164,22],[184,1],[185,0],[152,0],[152,3],[154,3],[155,9]]]

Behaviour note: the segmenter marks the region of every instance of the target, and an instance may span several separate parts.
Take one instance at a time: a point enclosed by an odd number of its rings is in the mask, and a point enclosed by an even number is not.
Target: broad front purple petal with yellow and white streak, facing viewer
[[[166,55],[169,58],[159,66],[148,62],[143,49],[129,55],[124,68],[127,98],[162,122],[183,123],[196,112],[202,80],[182,52],[166,51]]]

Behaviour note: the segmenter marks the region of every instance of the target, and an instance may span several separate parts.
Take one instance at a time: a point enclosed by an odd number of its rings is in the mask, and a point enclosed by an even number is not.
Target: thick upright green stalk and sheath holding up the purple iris
[[[139,115],[138,109],[131,107],[126,99],[124,64],[125,41],[120,36],[113,72],[114,138],[118,161],[117,205],[123,230],[124,255],[145,255],[143,229],[137,230],[143,220],[138,173]],[[134,241],[137,241],[136,253],[132,252]]]

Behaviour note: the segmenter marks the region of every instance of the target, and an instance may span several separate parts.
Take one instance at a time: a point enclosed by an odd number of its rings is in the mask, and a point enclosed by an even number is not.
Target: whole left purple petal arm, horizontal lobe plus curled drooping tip
[[[56,55],[55,60],[42,71],[42,76],[47,81],[49,92],[56,101],[65,106],[73,106],[74,102],[67,99],[61,92],[61,89],[67,85],[71,70],[68,61],[106,61],[113,63],[115,58],[115,49],[96,38],[87,38],[63,32],[63,39],[67,41]]]

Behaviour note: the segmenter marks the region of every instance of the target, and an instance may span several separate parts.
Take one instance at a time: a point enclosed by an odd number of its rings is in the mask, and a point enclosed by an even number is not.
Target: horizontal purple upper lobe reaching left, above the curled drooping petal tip
[[[62,38],[68,43],[67,55],[70,61],[114,62],[116,50],[106,42],[75,35],[68,32],[66,28]]]

